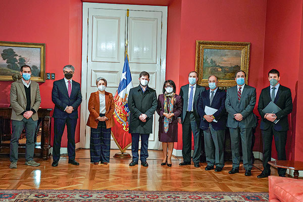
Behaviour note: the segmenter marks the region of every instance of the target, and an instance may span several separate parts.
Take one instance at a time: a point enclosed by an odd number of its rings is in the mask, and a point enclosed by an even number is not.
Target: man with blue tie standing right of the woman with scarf
[[[201,92],[205,90],[205,87],[197,85],[198,74],[195,71],[189,72],[188,82],[180,89],[180,96],[182,97],[183,109],[181,113],[181,119],[178,119],[179,123],[182,123],[182,156],[183,162],[180,166],[190,165],[191,157],[191,132],[193,134],[194,151],[192,161],[194,167],[200,167],[200,156],[202,151],[201,133],[199,130],[200,117],[197,110],[198,100]]]

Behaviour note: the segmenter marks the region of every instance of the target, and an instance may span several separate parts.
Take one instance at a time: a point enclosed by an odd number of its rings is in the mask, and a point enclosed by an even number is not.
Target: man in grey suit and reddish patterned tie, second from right
[[[239,141],[242,143],[242,157],[245,175],[251,175],[251,139],[252,128],[256,127],[254,110],[256,105],[256,88],[244,83],[246,73],[239,70],[235,73],[236,86],[227,89],[225,108],[228,112],[226,126],[231,140],[232,169],[229,174],[239,172]]]

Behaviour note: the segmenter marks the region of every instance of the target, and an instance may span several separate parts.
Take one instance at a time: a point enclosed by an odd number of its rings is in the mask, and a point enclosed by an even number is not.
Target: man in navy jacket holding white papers
[[[215,171],[220,172],[224,167],[226,92],[218,88],[217,76],[209,76],[208,82],[210,89],[202,92],[198,102],[198,112],[201,117],[200,129],[204,132],[207,162],[205,170],[212,170],[216,165]],[[218,111],[207,115],[205,112],[206,106]]]

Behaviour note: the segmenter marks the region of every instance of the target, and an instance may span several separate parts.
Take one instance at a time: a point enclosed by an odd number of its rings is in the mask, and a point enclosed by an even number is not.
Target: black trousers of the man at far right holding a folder
[[[273,136],[275,138],[278,160],[286,160],[285,145],[287,131],[276,131],[273,125],[271,125],[267,130],[261,131],[263,140],[263,172],[270,175],[270,165],[267,162],[271,161]],[[285,175],[285,173],[286,169],[278,168],[279,175]]]

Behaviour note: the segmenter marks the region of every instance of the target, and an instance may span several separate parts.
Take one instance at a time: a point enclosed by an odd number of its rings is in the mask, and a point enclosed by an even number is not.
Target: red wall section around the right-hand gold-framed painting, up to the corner
[[[175,0],[176,1],[176,0]],[[178,11],[177,9],[175,9]],[[188,73],[194,70],[195,64],[195,41],[248,41],[250,46],[250,66],[248,84],[261,92],[263,78],[263,56],[266,2],[258,1],[181,1],[181,32],[180,32],[180,54],[172,51],[176,44],[167,47],[167,75],[177,82],[177,88],[188,83]],[[170,7],[169,7],[170,11]],[[170,21],[175,19],[168,15],[168,27]],[[178,20],[176,20],[178,21]],[[168,30],[168,38],[170,37]],[[179,72],[175,71],[177,62],[180,61]],[[257,111],[256,111],[257,112]],[[260,147],[260,133],[257,134],[256,147]],[[179,127],[178,143],[176,149],[182,149],[182,130]]]

